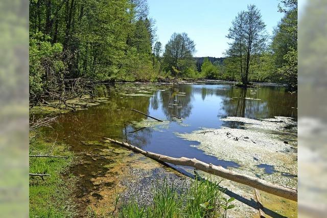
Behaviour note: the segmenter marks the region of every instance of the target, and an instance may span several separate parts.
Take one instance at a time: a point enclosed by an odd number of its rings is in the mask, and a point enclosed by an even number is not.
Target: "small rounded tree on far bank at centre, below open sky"
[[[164,61],[166,70],[177,76],[190,67],[195,67],[193,54],[195,43],[186,33],[174,33],[165,47]]]

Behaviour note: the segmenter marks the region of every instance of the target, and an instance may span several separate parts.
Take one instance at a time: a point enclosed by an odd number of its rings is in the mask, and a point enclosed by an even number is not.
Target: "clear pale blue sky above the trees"
[[[256,5],[269,34],[283,14],[278,0],[148,0],[150,17],[156,20],[158,40],[165,46],[174,32],[185,32],[196,43],[196,57],[222,57],[231,21],[247,5]]]

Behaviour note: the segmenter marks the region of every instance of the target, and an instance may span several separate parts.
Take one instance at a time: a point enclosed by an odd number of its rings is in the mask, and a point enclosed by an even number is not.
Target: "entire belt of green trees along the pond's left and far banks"
[[[272,36],[254,5],[239,12],[225,57],[199,65],[187,33],[173,33],[166,45],[156,41],[146,0],[30,0],[30,101],[59,99],[77,84],[167,78],[275,82],[295,90],[297,1],[283,0],[276,10],[284,16]]]

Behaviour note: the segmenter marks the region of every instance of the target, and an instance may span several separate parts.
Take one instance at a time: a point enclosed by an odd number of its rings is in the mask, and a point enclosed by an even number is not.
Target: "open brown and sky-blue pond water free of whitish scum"
[[[221,126],[240,128],[238,122],[220,120],[226,116],[297,118],[297,95],[286,92],[284,87],[258,86],[244,89],[228,84],[119,84],[108,86],[101,94],[108,98],[108,102],[87,110],[61,114],[53,129],[43,130],[46,137],[64,141],[77,154],[80,163],[74,166],[72,172],[79,178],[78,198],[97,190],[94,178],[104,176],[108,164],[128,155],[108,151],[110,158],[92,162],[90,153],[98,154],[101,149],[103,153],[103,149],[106,149],[101,143],[103,137],[127,141],[144,150],[173,157],[184,156],[224,167],[239,167],[239,163],[204,154],[191,146],[198,142],[184,140],[177,137],[176,133],[191,133],[201,128],[218,129]],[[134,122],[141,122],[147,117],[130,109],[168,122],[142,128]],[[172,118],[172,114],[182,120]],[[271,167],[268,166],[266,173],[274,173]],[[109,183],[108,185],[110,186]]]

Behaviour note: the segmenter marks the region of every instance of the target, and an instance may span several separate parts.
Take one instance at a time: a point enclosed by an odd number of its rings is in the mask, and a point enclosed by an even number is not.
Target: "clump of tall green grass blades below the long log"
[[[192,181],[189,188],[177,190],[166,180],[156,182],[153,189],[153,203],[138,206],[135,200],[122,205],[117,216],[128,218],[144,217],[227,217],[227,211],[234,205],[233,198],[222,197],[216,182]]]

